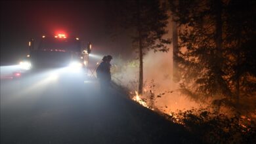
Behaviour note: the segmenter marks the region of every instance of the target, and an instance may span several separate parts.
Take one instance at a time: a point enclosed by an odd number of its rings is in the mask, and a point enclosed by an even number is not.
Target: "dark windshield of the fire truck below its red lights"
[[[76,39],[43,38],[39,43],[38,50],[79,52],[81,43]]]

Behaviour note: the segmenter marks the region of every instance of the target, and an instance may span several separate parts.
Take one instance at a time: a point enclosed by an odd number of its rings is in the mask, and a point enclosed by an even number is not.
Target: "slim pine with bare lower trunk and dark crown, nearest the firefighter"
[[[112,7],[116,27],[125,28],[125,33],[131,36],[133,46],[139,50],[139,94],[143,88],[143,55],[147,50],[167,52],[169,39],[163,36],[167,33],[167,9],[158,0],[150,1],[119,1]],[[112,19],[113,20],[113,19]]]

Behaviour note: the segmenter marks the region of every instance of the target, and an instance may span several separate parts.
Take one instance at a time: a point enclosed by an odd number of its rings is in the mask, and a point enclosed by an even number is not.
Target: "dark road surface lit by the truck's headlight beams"
[[[28,79],[26,79],[28,81]],[[1,143],[192,143],[182,126],[96,79],[1,80]]]

